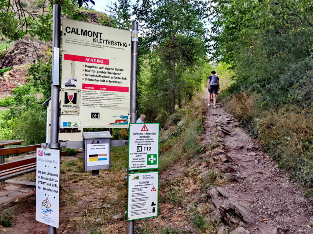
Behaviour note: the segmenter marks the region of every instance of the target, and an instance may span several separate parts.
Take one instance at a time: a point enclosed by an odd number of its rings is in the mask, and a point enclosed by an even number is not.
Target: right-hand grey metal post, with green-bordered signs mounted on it
[[[138,22],[132,22],[131,28],[131,123],[137,120],[137,66],[138,66]],[[134,173],[135,171],[129,171]],[[127,234],[134,233],[134,221],[127,222]]]

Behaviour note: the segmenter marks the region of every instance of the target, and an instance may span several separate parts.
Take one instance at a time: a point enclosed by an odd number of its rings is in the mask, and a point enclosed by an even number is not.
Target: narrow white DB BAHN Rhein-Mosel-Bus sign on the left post
[[[37,148],[36,220],[59,227],[60,151]]]

